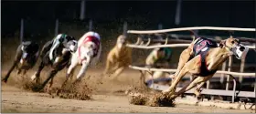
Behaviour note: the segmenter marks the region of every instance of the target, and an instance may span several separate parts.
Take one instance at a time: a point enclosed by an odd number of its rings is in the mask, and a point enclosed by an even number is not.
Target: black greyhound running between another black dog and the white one
[[[42,83],[42,85],[34,90],[40,90],[46,86],[49,79],[50,88],[53,83],[54,76],[62,70],[64,67],[68,67],[69,58],[71,53],[75,52],[77,48],[77,41],[73,36],[67,36],[65,34],[59,34],[51,41],[48,41],[40,53],[41,63],[37,68],[37,72],[31,77],[36,83],[39,83],[40,72],[46,66],[50,66],[52,69],[48,74],[48,78]]]

